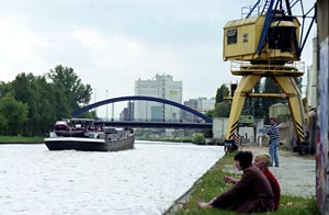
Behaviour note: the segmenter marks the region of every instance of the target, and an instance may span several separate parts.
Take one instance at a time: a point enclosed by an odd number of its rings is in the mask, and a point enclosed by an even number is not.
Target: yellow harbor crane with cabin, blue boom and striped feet
[[[300,16],[293,14],[296,7],[303,9]],[[310,20],[308,27],[306,19]],[[309,147],[294,77],[304,75],[300,54],[314,21],[314,7],[304,11],[302,0],[258,0],[245,19],[229,21],[224,26],[224,60],[231,60],[232,75],[242,76],[234,93],[225,136],[228,151],[237,149],[234,137],[247,97],[286,99],[298,137],[296,146],[299,151]],[[272,78],[282,93],[253,93],[252,88],[263,77]]]

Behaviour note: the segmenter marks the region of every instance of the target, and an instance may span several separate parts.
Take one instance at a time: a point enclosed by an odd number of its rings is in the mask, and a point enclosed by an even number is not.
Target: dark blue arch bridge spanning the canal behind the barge
[[[143,97],[143,95],[129,95],[129,97],[120,97],[120,98],[112,98],[112,99],[106,99],[103,101],[99,101],[95,102],[93,104],[89,104],[87,106],[83,106],[81,109],[78,109],[76,111],[73,111],[71,113],[71,115],[73,117],[78,117],[80,114],[90,111],[92,109],[97,109],[99,106],[103,106],[106,104],[114,104],[115,102],[123,102],[123,101],[127,101],[128,103],[132,103],[132,101],[151,101],[151,102],[158,102],[158,103],[162,103],[163,105],[170,105],[170,106],[175,106],[180,110],[186,111],[189,113],[191,113],[192,115],[195,115],[197,117],[201,118],[201,121],[197,122],[183,122],[183,121],[179,121],[179,122],[170,122],[170,121],[166,121],[164,118],[164,113],[163,113],[163,117],[159,121],[149,121],[149,120],[145,120],[145,121],[134,121],[134,118],[128,118],[125,121],[114,121],[113,118],[111,121],[107,120],[102,120],[102,121],[98,121],[97,123],[101,123],[104,126],[120,126],[120,127],[157,127],[157,128],[196,128],[196,129],[212,129],[213,128],[213,120],[206,115],[204,115],[203,113],[200,113],[197,111],[195,111],[194,109],[191,109],[189,106],[185,106],[183,104],[170,101],[170,100],[166,100],[166,99],[160,99],[160,98],[154,98],[154,97]],[[129,106],[134,106],[134,105],[129,105]],[[131,113],[134,113],[134,110],[131,110],[131,108],[128,108]],[[164,112],[164,109],[163,109]],[[132,115],[132,114],[129,114]]]

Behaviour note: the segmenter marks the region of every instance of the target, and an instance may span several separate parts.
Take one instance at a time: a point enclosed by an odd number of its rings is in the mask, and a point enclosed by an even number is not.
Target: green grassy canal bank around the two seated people
[[[235,173],[229,173],[234,163],[234,154],[224,156],[209,171],[207,171],[198,183],[193,188],[189,202],[183,204],[182,208],[175,212],[177,215],[197,215],[197,214],[227,214],[237,215],[237,213],[222,211],[217,208],[200,210],[196,206],[196,200],[200,197],[204,201],[209,201],[214,196],[226,191],[230,184],[226,184],[223,180],[224,176],[231,176],[239,178]],[[317,215],[319,214],[315,199],[303,199],[297,196],[281,196],[280,210],[276,212],[261,213],[261,214],[277,214],[277,215]]]

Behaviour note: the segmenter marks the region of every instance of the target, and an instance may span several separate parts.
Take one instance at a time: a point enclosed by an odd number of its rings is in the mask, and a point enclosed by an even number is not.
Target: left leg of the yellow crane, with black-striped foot
[[[246,97],[260,79],[261,76],[257,75],[243,76],[235,91],[225,136],[225,148],[228,151],[237,149],[237,146],[234,143],[234,135],[238,127],[238,122],[243,109]]]

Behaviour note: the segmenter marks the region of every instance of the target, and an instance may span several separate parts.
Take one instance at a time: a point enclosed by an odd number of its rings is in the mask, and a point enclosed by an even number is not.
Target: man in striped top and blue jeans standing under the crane
[[[279,167],[279,156],[277,156],[277,146],[279,146],[279,127],[276,125],[275,118],[270,118],[271,127],[268,129],[268,135],[270,135],[270,148],[269,154],[271,156],[271,163],[275,167]]]

